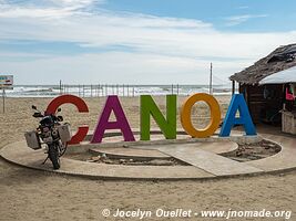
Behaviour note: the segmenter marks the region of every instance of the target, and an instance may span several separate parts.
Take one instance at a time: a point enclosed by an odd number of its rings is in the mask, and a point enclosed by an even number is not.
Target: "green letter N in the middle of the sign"
[[[176,138],[176,95],[166,96],[166,119],[150,95],[141,96],[141,140],[150,140],[151,116],[166,139]]]

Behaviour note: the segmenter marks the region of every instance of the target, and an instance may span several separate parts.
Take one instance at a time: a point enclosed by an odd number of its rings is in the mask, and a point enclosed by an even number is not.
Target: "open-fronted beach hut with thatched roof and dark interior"
[[[296,44],[279,46],[254,65],[229,77],[238,83],[239,93],[244,94],[254,123],[280,124],[280,109],[285,102],[285,84],[266,84],[259,82],[275,73],[296,66]]]

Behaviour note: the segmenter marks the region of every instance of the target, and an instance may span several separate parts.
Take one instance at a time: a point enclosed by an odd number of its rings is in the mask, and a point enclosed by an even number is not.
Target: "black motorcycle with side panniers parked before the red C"
[[[28,136],[25,136],[28,146],[33,149],[40,149],[41,145],[45,144],[45,154],[48,154],[48,157],[43,164],[50,159],[53,169],[59,169],[61,165],[60,157],[65,152],[67,143],[71,139],[70,126],[69,124],[62,125],[63,117],[57,116],[57,114],[61,112],[61,108],[59,108],[55,114],[49,115],[45,113],[42,114],[34,105],[32,105],[32,109],[35,110],[33,117],[41,118],[41,120],[39,122],[37,130],[31,131],[31,134],[34,134],[35,140],[32,141],[31,137],[31,140],[28,141]],[[37,144],[32,145],[32,143]]]

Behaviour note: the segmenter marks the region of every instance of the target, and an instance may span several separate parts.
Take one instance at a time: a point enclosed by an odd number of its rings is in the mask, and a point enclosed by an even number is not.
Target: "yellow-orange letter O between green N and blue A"
[[[191,110],[196,102],[205,102],[210,106],[211,122],[203,129],[195,129],[191,120]],[[188,97],[181,109],[181,124],[185,131],[194,138],[204,138],[212,136],[220,126],[221,110],[215,97],[205,93],[197,93]]]

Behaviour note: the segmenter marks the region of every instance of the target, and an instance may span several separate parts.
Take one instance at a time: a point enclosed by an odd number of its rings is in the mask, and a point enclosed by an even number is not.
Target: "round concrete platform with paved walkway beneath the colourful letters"
[[[71,146],[68,151],[82,152],[108,151],[122,156],[139,155],[152,157],[174,157],[186,161],[190,166],[122,166],[79,161],[61,158],[61,169],[52,170],[52,165],[45,159],[44,150],[32,150],[25,141],[7,145],[1,149],[1,157],[6,160],[38,170],[52,171],[61,175],[81,176],[103,179],[213,179],[243,175],[258,175],[292,170],[296,168],[296,139],[293,137],[263,134],[265,139],[277,143],[282,147],[278,154],[259,160],[237,162],[217,154],[232,151],[237,148],[241,139],[251,139],[244,136],[234,136],[228,139],[211,137],[206,139],[183,138],[176,140],[155,139],[152,141],[135,143],[104,143],[82,144]],[[110,139],[111,140],[111,139]],[[232,141],[232,140],[235,140]],[[241,140],[242,141],[242,140]],[[118,148],[118,149],[116,149]],[[118,154],[119,155],[119,154]]]

